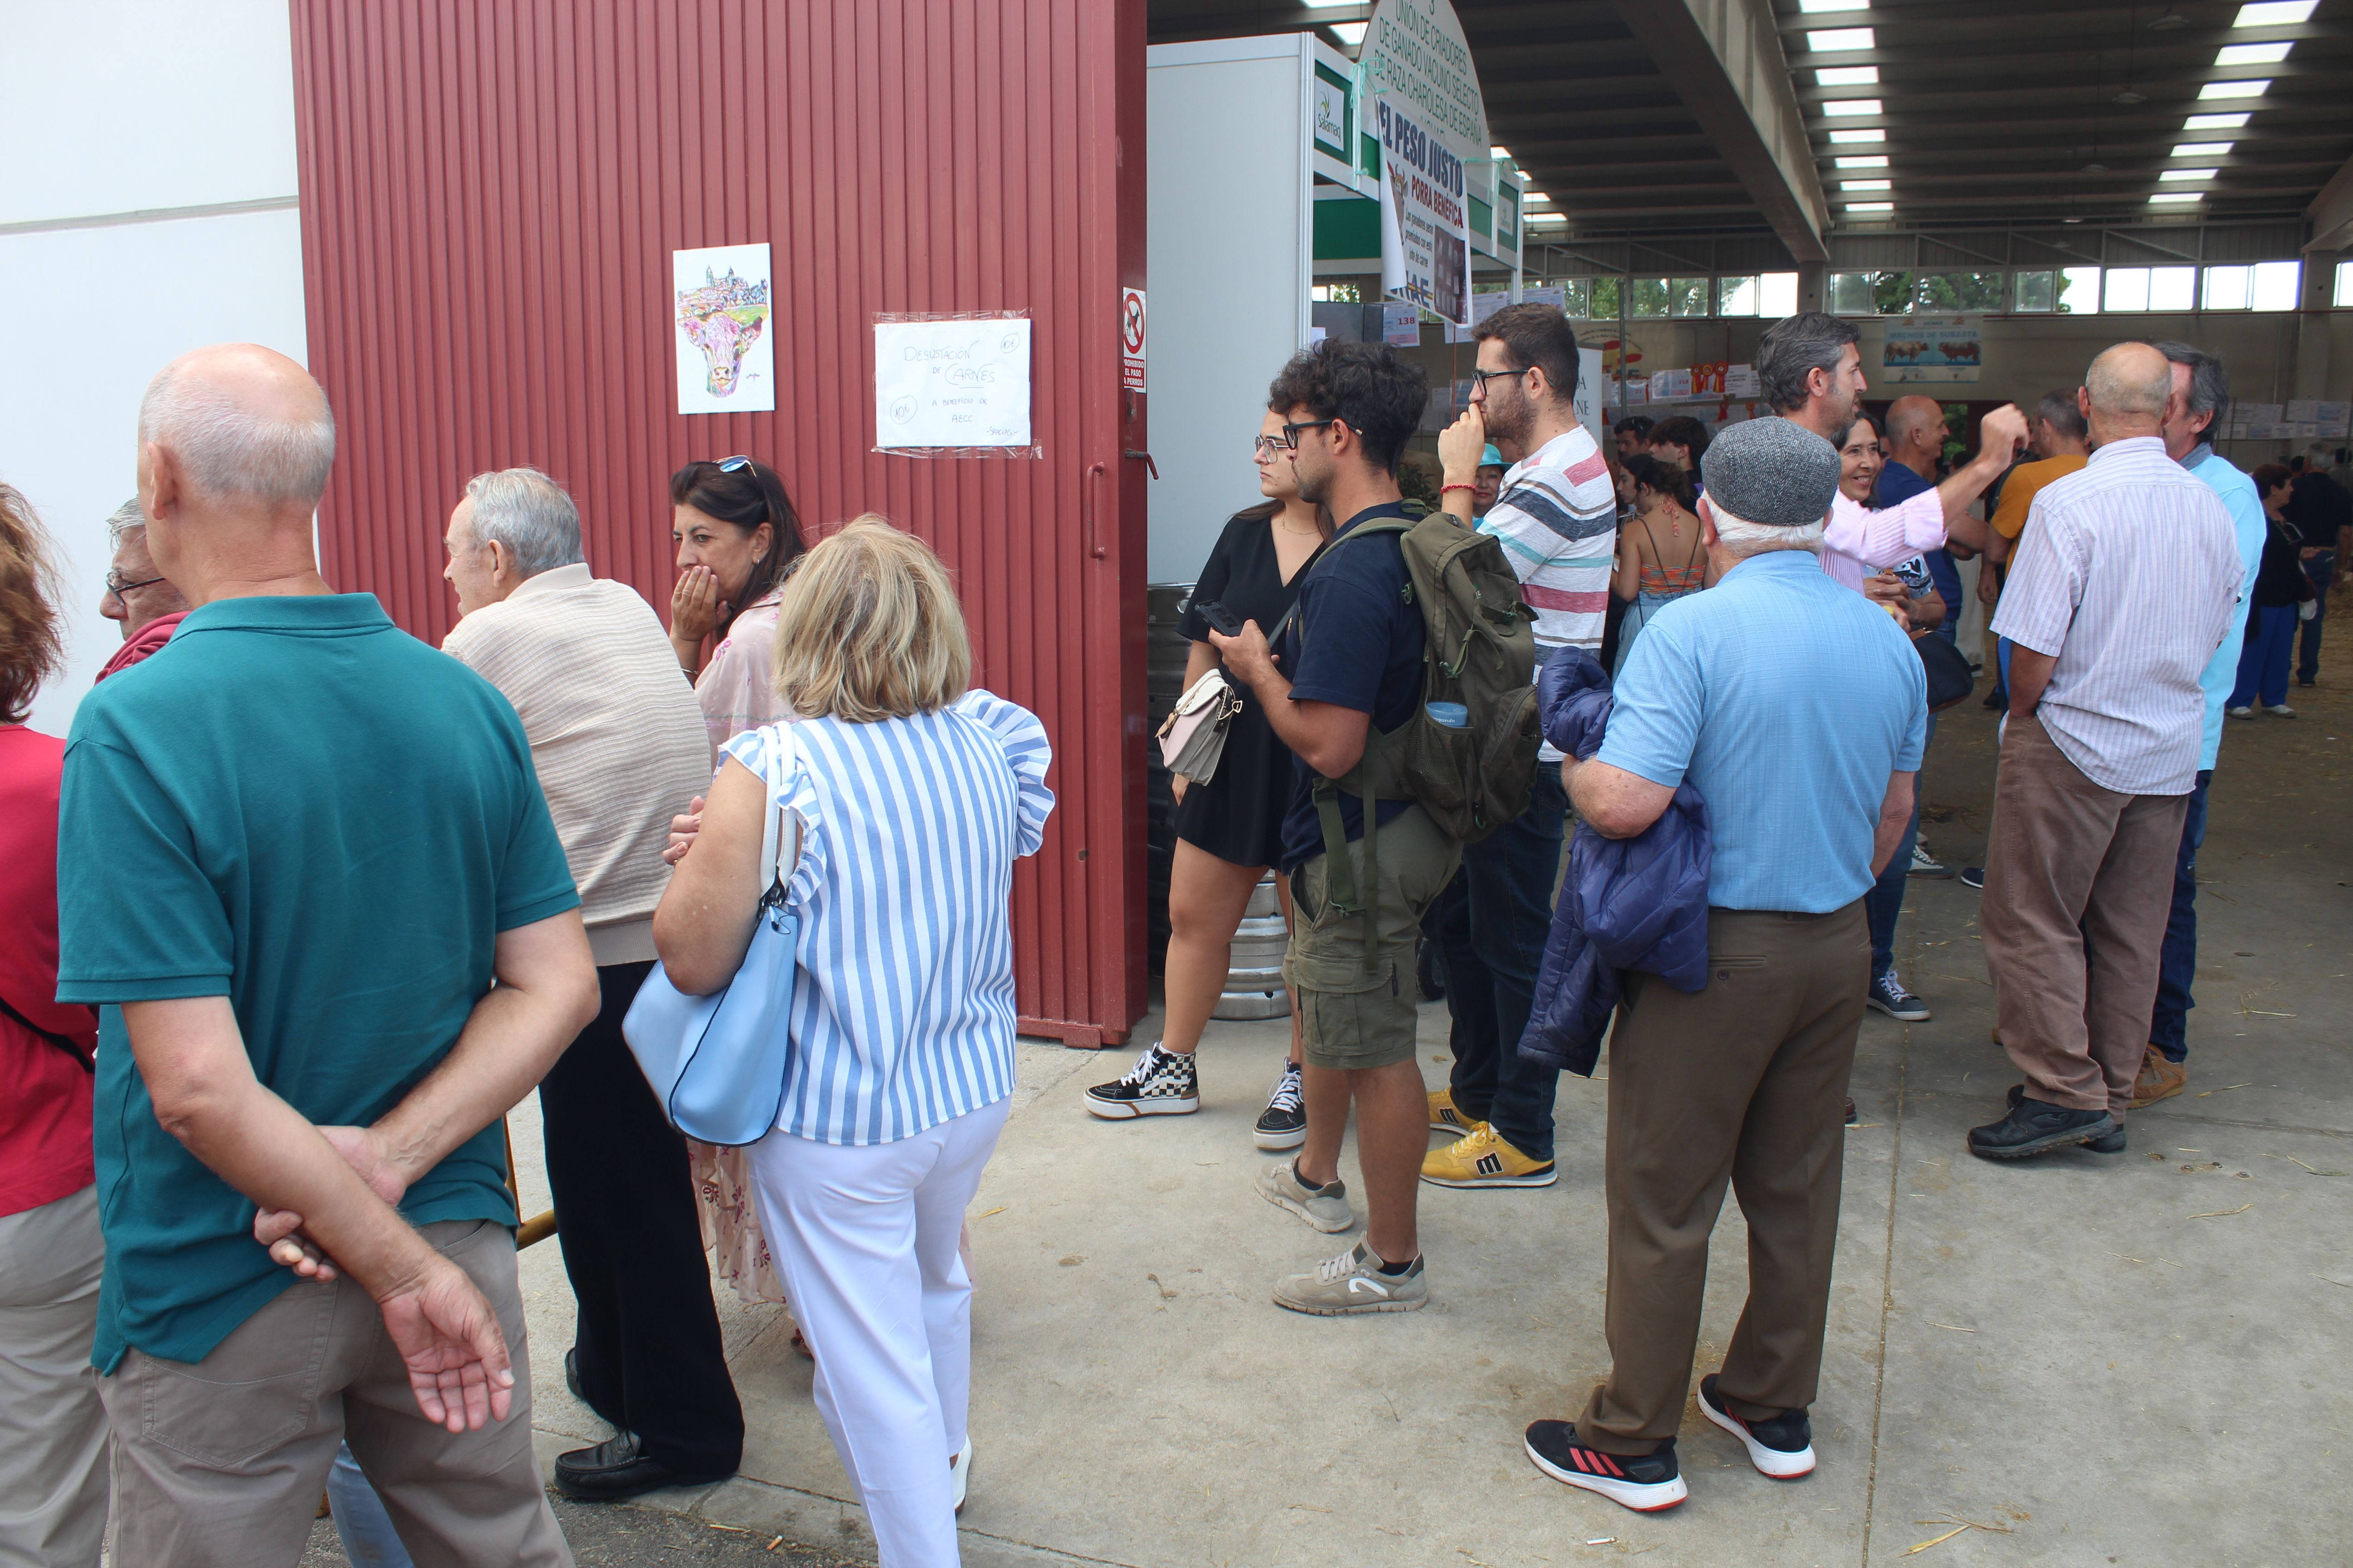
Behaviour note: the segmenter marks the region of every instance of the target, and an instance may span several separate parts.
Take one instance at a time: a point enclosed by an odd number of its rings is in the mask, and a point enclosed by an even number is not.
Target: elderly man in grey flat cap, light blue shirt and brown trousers
[[[1675,1429],[1729,1182],[1748,1307],[1699,1410],[1767,1476],[1814,1469],[1842,1103],[1864,1018],[1864,893],[1911,820],[1927,679],[1897,621],[1814,559],[1838,451],[1788,418],[1715,437],[1701,541],[1720,578],[1668,604],[1617,682],[1569,799],[1633,837],[1685,780],[1708,802],[1708,985],[1628,973],[1609,1037],[1609,1380],[1527,1453],[1633,1509],[1675,1507]]]

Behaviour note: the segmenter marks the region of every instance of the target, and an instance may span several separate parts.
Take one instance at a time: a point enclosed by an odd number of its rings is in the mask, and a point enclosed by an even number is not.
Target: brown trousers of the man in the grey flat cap
[[[1861,900],[1711,910],[1704,992],[1626,976],[1609,1034],[1609,1380],[1581,1441],[1635,1455],[1682,1425],[1725,1182],[1748,1218],[1748,1305],[1718,1387],[1751,1420],[1814,1403],[1868,983]]]

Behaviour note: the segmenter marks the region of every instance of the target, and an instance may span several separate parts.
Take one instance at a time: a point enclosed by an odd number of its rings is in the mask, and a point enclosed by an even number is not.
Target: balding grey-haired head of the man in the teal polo
[[[169,465],[191,496],[308,515],[334,465],[334,414],[294,360],[259,343],[216,343],[172,360],[148,383],[139,444],[141,458]]]

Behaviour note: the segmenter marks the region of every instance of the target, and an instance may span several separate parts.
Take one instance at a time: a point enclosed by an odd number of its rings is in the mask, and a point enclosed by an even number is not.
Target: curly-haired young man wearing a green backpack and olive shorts
[[[1379,343],[1318,343],[1282,367],[1268,407],[1287,421],[1299,494],[1341,524],[1273,646],[1257,623],[1209,632],[1299,759],[1282,969],[1299,992],[1308,1135],[1259,1173],[1259,1194],[1348,1229],[1339,1145],[1351,1103],[1358,1117],[1365,1239],[1275,1286],[1275,1305],[1320,1316],[1428,1300],[1414,943],[1461,842],[1520,816],[1534,773],[1534,639],[1501,548],[1445,512],[1409,517],[1398,491],[1426,400],[1421,369]]]

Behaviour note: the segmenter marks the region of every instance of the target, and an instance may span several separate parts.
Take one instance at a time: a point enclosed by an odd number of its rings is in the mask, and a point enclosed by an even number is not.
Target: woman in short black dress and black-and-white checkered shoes
[[[1320,505],[1299,498],[1299,475],[1282,447],[1282,416],[1268,414],[1259,425],[1254,449],[1264,505],[1238,512],[1209,550],[1200,583],[1176,623],[1191,642],[1184,684],[1193,686],[1217,668],[1209,646],[1209,623],[1200,607],[1221,602],[1238,621],[1257,621],[1273,635],[1275,623],[1299,595],[1299,574],[1308,557],[1329,538],[1332,524]],[[1209,1023],[1219,992],[1226,990],[1226,961],[1233,931],[1249,907],[1249,891],[1275,863],[1282,842],[1282,811],[1289,806],[1299,776],[1292,752],[1275,741],[1266,710],[1247,686],[1242,712],[1226,731],[1226,750],[1209,783],[1176,778],[1176,863],[1169,870],[1169,957],[1167,1020],[1162,1037],[1146,1046],[1127,1077],[1087,1091],[1087,1110],[1125,1121],[1129,1117],[1165,1117],[1200,1110],[1200,1077],[1193,1048]],[[1292,893],[1278,877],[1282,919],[1289,924]],[[1306,1138],[1306,1112],[1299,1103],[1299,1006],[1292,999],[1292,1056],[1259,1117],[1261,1150],[1292,1150]]]

